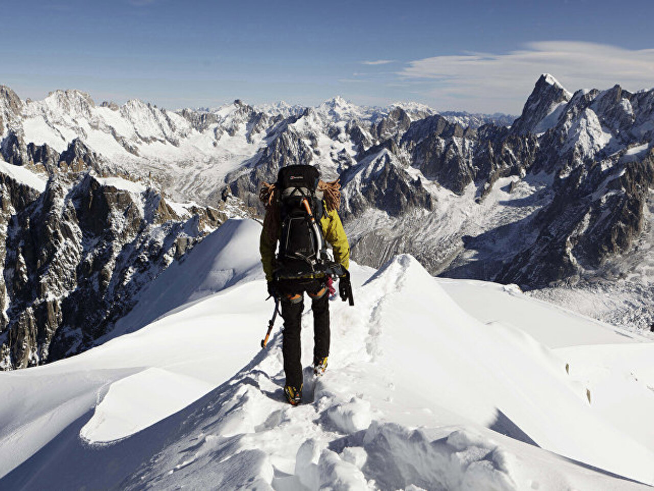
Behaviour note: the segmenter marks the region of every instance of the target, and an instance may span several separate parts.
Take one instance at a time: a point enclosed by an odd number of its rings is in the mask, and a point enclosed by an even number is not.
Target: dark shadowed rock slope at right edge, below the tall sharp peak
[[[642,160],[602,172],[577,168],[560,183],[550,206],[536,217],[540,235],[506,264],[495,280],[526,289],[578,278],[625,253],[644,227],[654,186],[654,151]],[[600,192],[598,192],[600,191]],[[526,267],[528,265],[528,267]]]

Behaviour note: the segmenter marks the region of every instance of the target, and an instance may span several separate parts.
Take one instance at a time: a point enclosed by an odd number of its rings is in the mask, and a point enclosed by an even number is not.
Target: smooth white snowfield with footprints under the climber
[[[307,369],[290,407],[281,319],[259,345],[273,308],[259,233],[228,221],[152,282],[113,338],[0,373],[0,488],[654,485],[650,338],[517,287],[434,278],[409,255],[353,264],[356,305],[330,302],[328,370]],[[307,306],[307,368],[312,323]]]

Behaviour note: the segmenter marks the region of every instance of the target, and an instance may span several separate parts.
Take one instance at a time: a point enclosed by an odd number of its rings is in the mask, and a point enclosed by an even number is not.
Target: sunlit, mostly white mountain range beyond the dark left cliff
[[[397,110],[413,120],[435,113],[415,103],[359,107],[339,97],[315,108],[286,103],[253,107],[236,100],[211,110],[167,111],[138,100],[121,106],[96,105],[78,90],[58,90],[43,101],[22,101],[3,86],[0,139],[6,161],[39,163],[52,161],[53,151],[63,153],[77,138],[101,156],[103,168],[112,173],[157,179],[175,200],[216,204],[226,174],[258,158],[275,135],[303,115],[313,113],[321,121],[315,134],[342,140],[352,133],[354,139],[365,140],[368,126],[376,126]],[[455,118],[477,126],[493,117],[456,113]],[[343,132],[347,124],[351,128]],[[386,130],[382,138],[392,132]],[[30,144],[34,148],[28,149]]]

